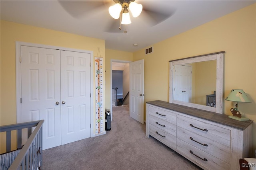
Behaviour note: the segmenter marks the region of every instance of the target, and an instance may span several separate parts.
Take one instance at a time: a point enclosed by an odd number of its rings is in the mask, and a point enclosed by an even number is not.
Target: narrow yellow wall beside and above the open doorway
[[[110,49],[105,49],[105,76],[106,76],[106,109],[110,109],[112,106],[110,104],[111,101],[111,93],[112,93],[112,88],[110,87],[110,61],[111,59],[113,60],[122,60],[122,61],[132,61],[132,53],[130,52],[124,52],[124,51],[116,51],[116,50],[110,50]]]

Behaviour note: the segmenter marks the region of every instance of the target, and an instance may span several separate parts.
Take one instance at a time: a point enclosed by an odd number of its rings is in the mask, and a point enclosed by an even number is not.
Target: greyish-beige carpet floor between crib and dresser
[[[129,116],[129,105],[113,107],[111,130],[43,150],[43,170],[198,170]]]

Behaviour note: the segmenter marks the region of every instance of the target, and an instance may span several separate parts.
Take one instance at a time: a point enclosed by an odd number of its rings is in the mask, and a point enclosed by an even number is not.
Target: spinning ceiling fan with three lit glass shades
[[[120,31],[121,24],[145,23],[152,27],[168,19],[175,12],[174,9],[169,8],[163,10],[163,8],[167,8],[164,4],[170,3],[170,1],[161,1],[160,4],[160,0],[59,0],[58,2],[76,19],[88,17],[97,10],[108,11],[108,14],[105,15],[111,17],[109,17],[107,25],[104,26],[104,31],[108,33],[122,33]],[[131,15],[134,17],[133,21],[131,21]],[[132,26],[126,27],[133,28]],[[124,33],[126,32],[124,31]]]

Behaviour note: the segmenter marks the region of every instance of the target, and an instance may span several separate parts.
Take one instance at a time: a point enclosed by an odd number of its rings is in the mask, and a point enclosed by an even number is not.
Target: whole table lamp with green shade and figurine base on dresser
[[[225,100],[236,102],[236,108],[231,108],[230,111],[232,115],[229,115],[229,118],[236,119],[239,121],[249,120],[246,117],[242,117],[242,113],[238,110],[238,102],[251,102],[244,90],[231,90],[228,97]]]

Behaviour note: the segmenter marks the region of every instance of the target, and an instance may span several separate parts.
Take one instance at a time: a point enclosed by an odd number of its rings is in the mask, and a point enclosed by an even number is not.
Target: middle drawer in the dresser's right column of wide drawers
[[[230,147],[177,127],[177,138],[230,164]]]

